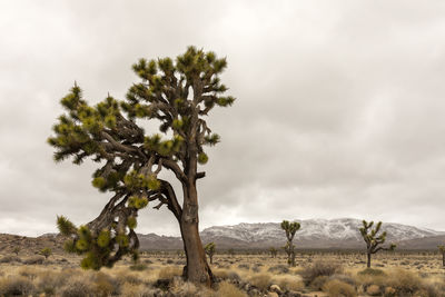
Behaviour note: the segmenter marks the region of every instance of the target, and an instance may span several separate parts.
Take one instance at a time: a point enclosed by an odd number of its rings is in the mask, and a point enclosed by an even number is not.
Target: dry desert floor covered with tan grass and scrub
[[[445,269],[435,253],[382,253],[365,270],[359,253],[214,256],[217,284],[208,289],[180,277],[185,258],[177,251],[141,253],[100,271],[79,268],[68,254],[0,255],[0,296],[445,296]]]

